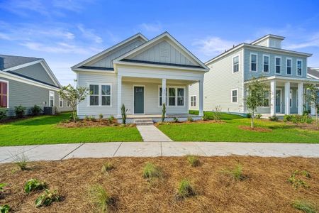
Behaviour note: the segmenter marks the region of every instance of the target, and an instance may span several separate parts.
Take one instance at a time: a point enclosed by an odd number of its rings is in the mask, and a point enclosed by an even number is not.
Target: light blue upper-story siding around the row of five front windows
[[[257,72],[250,70],[250,55],[257,54]],[[269,72],[263,72],[264,64],[263,64],[263,55],[269,55]],[[281,58],[281,73],[278,74],[275,72],[275,58]],[[286,59],[289,58],[292,60],[292,68],[291,68],[291,75],[286,74]],[[297,75],[297,60],[302,60],[302,75]],[[279,75],[285,77],[307,77],[307,58],[304,56],[296,56],[296,55],[288,55],[288,54],[279,54],[273,53],[271,50],[253,50],[250,48],[245,48],[245,57],[244,57],[244,79],[250,80],[252,77],[260,77],[263,75],[264,77]]]

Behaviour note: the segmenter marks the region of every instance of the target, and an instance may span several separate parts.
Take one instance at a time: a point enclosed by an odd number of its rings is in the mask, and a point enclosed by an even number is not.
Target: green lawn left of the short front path
[[[68,119],[69,113],[57,116],[37,116],[8,124],[0,124],[0,146],[142,141],[135,127],[105,126],[65,128],[57,124]]]

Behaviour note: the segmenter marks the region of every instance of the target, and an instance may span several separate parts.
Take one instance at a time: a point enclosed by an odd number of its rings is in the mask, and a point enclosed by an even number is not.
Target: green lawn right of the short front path
[[[205,112],[211,116],[211,112]],[[158,128],[173,141],[232,141],[232,142],[281,142],[319,143],[319,131],[296,128],[282,121],[256,120],[257,127],[271,129],[270,132],[254,132],[239,129],[250,126],[250,119],[223,114],[222,124],[167,124]]]

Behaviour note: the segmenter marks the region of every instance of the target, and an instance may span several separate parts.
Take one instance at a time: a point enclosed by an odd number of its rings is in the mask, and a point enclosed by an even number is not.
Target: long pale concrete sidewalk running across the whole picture
[[[227,143],[227,142],[109,142],[69,143],[39,146],[0,147],[0,163],[14,162],[16,155],[29,160],[69,158],[226,156],[319,158],[319,144],[305,143]]]

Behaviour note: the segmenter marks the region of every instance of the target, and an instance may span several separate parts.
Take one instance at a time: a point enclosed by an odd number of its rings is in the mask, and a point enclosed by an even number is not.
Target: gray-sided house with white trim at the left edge
[[[0,107],[14,116],[14,107],[57,107],[57,111],[69,111],[67,102],[57,91],[61,85],[42,58],[0,55]]]

